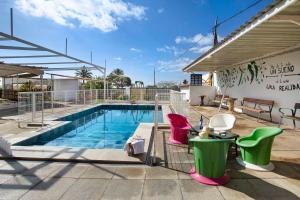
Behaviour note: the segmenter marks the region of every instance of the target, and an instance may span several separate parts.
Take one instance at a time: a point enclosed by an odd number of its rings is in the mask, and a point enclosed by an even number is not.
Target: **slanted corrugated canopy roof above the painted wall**
[[[254,16],[183,71],[216,71],[299,49],[300,1],[281,0]]]

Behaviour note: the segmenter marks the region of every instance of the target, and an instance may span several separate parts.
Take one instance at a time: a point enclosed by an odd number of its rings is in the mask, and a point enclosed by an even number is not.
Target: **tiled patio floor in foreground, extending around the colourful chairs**
[[[199,120],[199,107],[190,120]],[[246,135],[257,126],[255,118],[237,115],[235,132]],[[241,168],[230,154],[231,181],[207,186],[192,180],[188,171],[193,155],[186,146],[169,144],[169,130],[158,134],[161,166],[70,164],[0,161],[0,199],[300,199],[300,133],[284,131],[274,141],[273,172]]]

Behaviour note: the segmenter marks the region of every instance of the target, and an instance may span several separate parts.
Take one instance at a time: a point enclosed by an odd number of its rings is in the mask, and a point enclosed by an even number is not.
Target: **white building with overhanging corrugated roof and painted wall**
[[[236,104],[244,97],[274,100],[278,121],[280,107],[300,103],[300,1],[277,1],[183,70],[213,72],[212,90]],[[191,104],[210,92],[190,88]]]

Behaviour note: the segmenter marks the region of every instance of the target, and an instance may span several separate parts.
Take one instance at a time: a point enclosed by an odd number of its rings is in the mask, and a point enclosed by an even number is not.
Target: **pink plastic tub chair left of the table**
[[[186,117],[178,114],[168,114],[171,125],[169,141],[173,144],[187,144],[188,132],[192,128]]]

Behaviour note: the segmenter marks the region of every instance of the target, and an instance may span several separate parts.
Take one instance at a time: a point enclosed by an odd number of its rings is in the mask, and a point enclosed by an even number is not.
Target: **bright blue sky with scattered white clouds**
[[[67,37],[69,55],[89,60],[93,51],[93,62],[104,65],[106,59],[108,72],[118,67],[147,85],[153,84],[155,67],[157,81],[180,82],[189,77],[181,69],[211,47],[209,29],[216,17],[222,21],[255,1],[1,0],[0,31],[9,32],[12,7],[17,37],[62,52]],[[225,37],[271,2],[263,0],[220,26],[219,36]],[[1,50],[0,55],[10,53]]]

